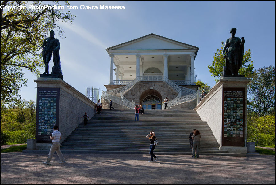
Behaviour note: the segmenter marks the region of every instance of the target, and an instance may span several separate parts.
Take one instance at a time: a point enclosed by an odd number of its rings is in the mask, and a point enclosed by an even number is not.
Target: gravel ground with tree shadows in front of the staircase
[[[275,184],[275,156],[145,154],[1,154],[1,184]]]

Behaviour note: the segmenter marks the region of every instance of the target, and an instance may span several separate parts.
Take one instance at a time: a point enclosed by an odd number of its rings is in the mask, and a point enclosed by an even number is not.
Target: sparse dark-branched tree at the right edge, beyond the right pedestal
[[[257,116],[275,113],[275,67],[255,70],[248,83],[249,110]]]

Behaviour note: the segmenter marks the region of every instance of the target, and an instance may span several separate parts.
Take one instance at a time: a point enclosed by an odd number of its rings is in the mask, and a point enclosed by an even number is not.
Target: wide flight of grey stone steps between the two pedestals
[[[66,152],[149,153],[149,131],[156,133],[156,154],[192,154],[189,134],[201,132],[201,155],[227,155],[206,122],[194,110],[145,110],[135,121],[134,110],[102,110],[83,122],[63,141]]]

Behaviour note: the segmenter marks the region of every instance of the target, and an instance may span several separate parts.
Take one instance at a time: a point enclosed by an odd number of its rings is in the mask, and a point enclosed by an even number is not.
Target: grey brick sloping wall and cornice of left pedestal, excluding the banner
[[[60,78],[38,78],[34,80],[37,87],[60,88],[59,97],[59,131],[62,142],[83,121],[86,112],[89,118],[95,114],[96,104],[74,87]]]

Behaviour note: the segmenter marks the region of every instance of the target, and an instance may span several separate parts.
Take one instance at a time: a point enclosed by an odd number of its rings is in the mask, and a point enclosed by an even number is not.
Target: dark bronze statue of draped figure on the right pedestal
[[[235,37],[236,31],[236,28],[230,30],[231,37],[226,40],[222,50],[225,58],[224,75],[239,75],[239,69],[242,66],[245,40],[244,37],[241,39]],[[224,53],[225,50],[226,54]]]

